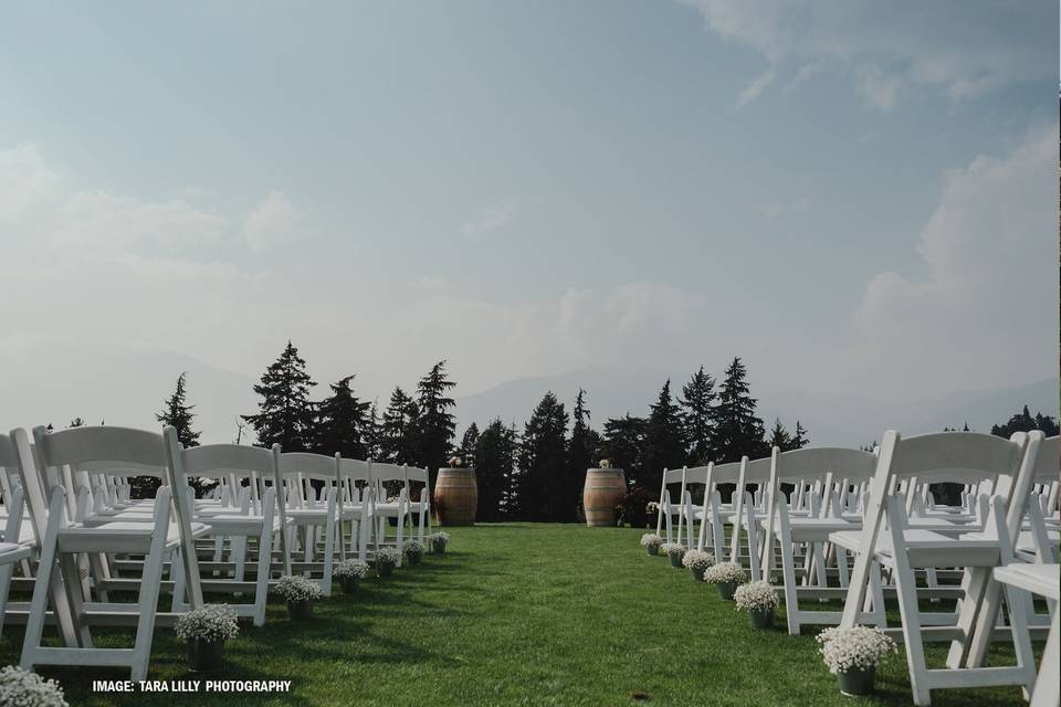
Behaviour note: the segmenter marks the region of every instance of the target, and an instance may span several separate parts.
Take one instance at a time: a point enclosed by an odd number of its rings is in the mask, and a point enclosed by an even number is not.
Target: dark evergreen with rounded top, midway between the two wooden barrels
[[[526,520],[556,521],[561,517],[567,422],[564,403],[549,391],[524,426],[516,497]]]

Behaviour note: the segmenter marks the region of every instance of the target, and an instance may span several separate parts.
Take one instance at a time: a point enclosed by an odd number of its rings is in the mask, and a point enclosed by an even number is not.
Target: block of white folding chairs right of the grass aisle
[[[665,471],[656,531],[740,562],[753,580],[778,578],[789,633],[868,624],[892,634],[905,645],[917,705],[933,689],[1020,685],[1033,704],[1055,706],[1059,449],[1041,432],[890,431],[874,452],[775,449],[761,460]],[[960,505],[937,504],[938,483],[960,485]],[[726,503],[725,484],[735,488]],[[1034,611],[1029,591],[1048,599],[1047,613]],[[922,611],[924,599],[941,610]],[[842,611],[807,608],[830,600],[842,600]],[[887,626],[886,600],[897,602],[900,626]],[[942,610],[948,601],[954,609]],[[1032,636],[1048,640],[1038,685]],[[996,640],[1011,641],[1016,665],[984,665]],[[950,643],[946,666],[929,668],[924,644],[939,641]]]

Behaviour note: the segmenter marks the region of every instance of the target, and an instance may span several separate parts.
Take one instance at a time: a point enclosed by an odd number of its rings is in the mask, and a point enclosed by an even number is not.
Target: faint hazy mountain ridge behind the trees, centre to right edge
[[[521,378],[474,395],[458,399],[460,426],[475,421],[482,426],[493,418],[523,424],[547,390],[570,408],[578,388],[588,392],[592,422],[627,412],[648,414],[668,373],[644,369],[592,368],[559,376]],[[672,378],[672,389],[681,391],[682,378]],[[789,428],[797,418],[810,430],[813,444],[858,446],[880,440],[887,429],[905,434],[932,432],[945,426],[970,428],[988,432],[1027,404],[1032,412],[1058,415],[1058,381],[1048,379],[1000,390],[963,391],[939,398],[903,403],[882,402],[850,395],[815,395],[809,392],[771,390],[756,387],[752,394],[759,401],[759,414],[773,423],[775,416]]]

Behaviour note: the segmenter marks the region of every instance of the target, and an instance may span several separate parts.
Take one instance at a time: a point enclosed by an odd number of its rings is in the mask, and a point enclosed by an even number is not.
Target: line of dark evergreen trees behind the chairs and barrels
[[[645,503],[655,499],[664,469],[708,461],[734,462],[744,455],[757,458],[774,446],[789,451],[810,443],[799,420],[791,430],[780,420],[766,429],[739,357],[719,380],[703,366],[680,392],[672,390],[668,379],[644,416],[628,412],[606,419],[598,430],[592,425],[586,390],[579,389],[570,412],[549,391],[522,429],[500,418],[482,428],[472,422],[458,442],[456,403],[450,395],[455,382],[445,363],[433,365],[416,389],[407,392],[396,387],[380,410],[376,401],[357,394],[355,374],[329,383],[328,394],[314,399],[317,383],[288,341],[254,386],[260,398],[258,412],[242,419],[253,428],[259,445],[279,443],[284,451],[339,452],[351,458],[427,467],[432,488],[438,467],[456,455],[464,466],[475,468],[477,517],[484,521],[577,520],[586,469],[605,458],[624,471],[630,503],[643,511]],[[192,430],[193,416],[181,373],[156,418],[174,425],[181,442],[190,446],[199,439]],[[1044,429],[1048,434],[1054,430],[1057,434],[1053,418],[1032,416],[1027,408],[991,432],[1008,436],[1017,428]]]

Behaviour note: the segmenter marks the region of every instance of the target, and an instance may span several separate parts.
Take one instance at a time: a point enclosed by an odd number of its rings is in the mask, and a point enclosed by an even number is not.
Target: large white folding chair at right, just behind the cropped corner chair
[[[854,568],[844,603],[841,626],[859,621],[866,585],[874,562],[892,570],[902,619],[902,636],[906,648],[914,704],[931,704],[931,690],[954,687],[1020,685],[1030,692],[1034,680],[1031,644],[1022,611],[1011,614],[1011,636],[1017,651],[1017,665],[998,667],[962,667],[965,657],[978,641],[990,641],[995,630],[998,592],[990,595],[991,569],[1002,557],[1001,544],[1008,540],[1007,525],[1023,516],[1023,498],[1030,488],[1031,469],[1042,433],[1016,433],[1010,440],[971,432],[943,432],[903,439],[889,431],[881,443],[876,472],[861,531],[830,535],[830,540],[854,556]],[[1005,519],[994,518],[989,528],[996,537],[955,538],[933,530],[907,529],[905,499],[894,493],[897,482],[917,478],[926,482],[963,483],[969,476],[998,474],[996,490],[1001,500],[1018,493],[1020,503],[1010,507]],[[1012,517],[1016,515],[1016,521]],[[886,530],[884,528],[886,521]],[[924,641],[928,629],[922,629],[917,605],[916,568],[964,568],[957,626],[944,626],[954,636],[947,667],[929,669],[925,662]],[[978,620],[986,625],[978,626]],[[980,630],[976,630],[979,627]]]

